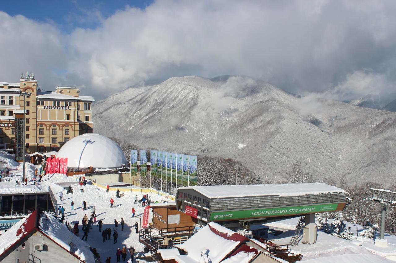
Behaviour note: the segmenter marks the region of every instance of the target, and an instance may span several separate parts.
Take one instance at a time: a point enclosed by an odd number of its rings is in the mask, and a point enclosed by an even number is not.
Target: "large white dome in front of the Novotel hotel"
[[[57,158],[67,158],[68,168],[122,167],[126,158],[121,148],[109,138],[97,133],[85,133],[62,146]]]

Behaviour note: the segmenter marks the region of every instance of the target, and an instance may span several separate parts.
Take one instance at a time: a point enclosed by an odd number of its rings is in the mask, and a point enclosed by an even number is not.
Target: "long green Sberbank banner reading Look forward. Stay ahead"
[[[259,218],[267,216],[283,216],[288,214],[307,214],[307,213],[320,213],[330,212],[337,209],[338,204],[326,205],[306,205],[301,207],[280,207],[280,208],[267,208],[267,209],[254,209],[254,210],[237,210],[227,212],[212,212],[210,215],[211,221],[221,221],[230,219],[242,218]]]

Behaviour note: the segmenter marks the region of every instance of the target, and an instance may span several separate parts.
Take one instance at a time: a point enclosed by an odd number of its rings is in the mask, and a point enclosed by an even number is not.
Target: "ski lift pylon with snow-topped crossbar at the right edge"
[[[375,240],[376,241],[375,244],[379,246],[387,246],[387,242],[384,239],[386,207],[396,205],[396,192],[392,192],[390,190],[384,190],[384,189],[375,189],[375,188],[370,188],[370,190],[371,190],[371,197],[364,198],[363,201],[372,201],[382,206],[381,229],[379,235],[381,241],[379,241],[377,244],[377,240]]]

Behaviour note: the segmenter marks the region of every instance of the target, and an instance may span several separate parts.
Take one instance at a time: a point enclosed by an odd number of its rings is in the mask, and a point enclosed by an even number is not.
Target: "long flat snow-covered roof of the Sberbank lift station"
[[[193,189],[208,198],[261,195],[299,196],[322,193],[346,193],[341,188],[324,183],[189,186],[181,187],[178,190],[183,191],[183,189]]]

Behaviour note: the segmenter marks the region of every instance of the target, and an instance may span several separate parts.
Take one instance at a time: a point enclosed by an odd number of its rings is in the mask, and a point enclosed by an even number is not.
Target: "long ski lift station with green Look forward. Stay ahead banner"
[[[176,196],[179,211],[228,227],[341,211],[346,205],[346,192],[324,183],[189,186]]]

